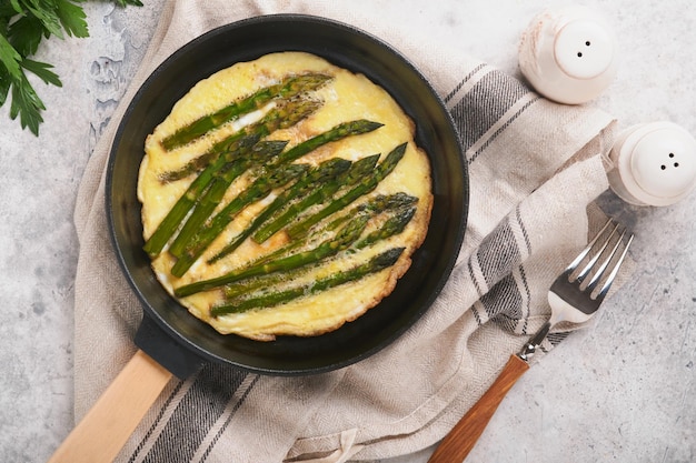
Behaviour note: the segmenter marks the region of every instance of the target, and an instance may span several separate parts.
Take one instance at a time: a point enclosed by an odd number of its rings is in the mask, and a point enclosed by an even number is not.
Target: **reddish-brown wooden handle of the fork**
[[[529,370],[529,364],[511,355],[488,391],[443,439],[428,463],[460,463],[484,433],[488,422],[517,380]]]

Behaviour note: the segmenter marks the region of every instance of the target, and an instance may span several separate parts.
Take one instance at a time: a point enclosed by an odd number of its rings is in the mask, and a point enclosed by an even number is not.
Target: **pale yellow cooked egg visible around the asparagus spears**
[[[358,202],[367,201],[376,194],[397,192],[416,197],[418,202],[415,217],[400,234],[379,241],[374,246],[364,250],[341,253],[321,265],[310,268],[291,284],[308,283],[349,269],[395,246],[404,246],[405,251],[396,264],[378,273],[272,308],[253,309],[243,313],[213,318],[210,315],[210,309],[220,303],[223,295],[221,290],[201,292],[180,299],[190,313],[223,334],[235,333],[255,340],[269,341],[277,335],[308,336],[336,330],[378,304],[394,290],[397,280],[410,265],[411,254],[425,239],[432,204],[430,167],[426,153],[414,141],[412,121],[384,89],[365,76],[355,74],[321,58],[301,52],[272,53],[251,62],[237,63],[200,81],[176,103],[169,117],[146,141],[146,155],[140,168],[138,183],[138,197],[142,202],[145,238],[149,238],[155,232],[157,225],[193,180],[191,177],[163,183],[160,181],[161,173],[185,165],[216,142],[260,119],[275,103],[268,103],[260,110],[227,123],[219,130],[211,131],[172,151],[165,151],[161,140],[178,128],[212,113],[231,101],[249,95],[260,88],[278,83],[287,76],[306,72],[320,72],[332,77],[332,80],[314,92],[314,98],[322,101],[321,108],[295,127],[271,133],[268,139],[288,140],[290,148],[341,122],[357,119],[380,122],[384,127],[374,132],[326,144],[296,162],[317,165],[335,157],[356,161],[376,153],[381,153],[381,162],[395,147],[408,142],[406,153],[396,169],[378,184],[375,191]],[[250,179],[246,175],[237,179],[228,189],[222,204],[243,191],[249,182]],[[152,268],[158,280],[167,291],[173,294],[175,288],[225,274],[286,244],[289,238],[281,231],[262,244],[247,239],[225,259],[212,264],[206,262],[241,232],[274,198],[275,194],[271,193],[262,201],[246,208],[181,278],[176,278],[170,273],[176,258],[166,251],[160,253],[152,260]]]

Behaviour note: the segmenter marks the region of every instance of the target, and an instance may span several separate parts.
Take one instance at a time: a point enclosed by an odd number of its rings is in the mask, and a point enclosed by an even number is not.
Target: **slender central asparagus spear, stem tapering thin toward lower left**
[[[325,182],[336,178],[340,173],[348,170],[351,162],[340,158],[331,158],[328,161],[322,162],[316,169],[310,170],[301,178],[297,183],[285,190],[278,195],[264,211],[261,211],[253,221],[241,233],[226,245],[220,252],[218,252],[208,262],[213,263],[233,252],[253,231],[259,228],[268,218],[270,218],[276,211],[286,205],[289,201],[305,194],[311,188],[324,184]]]

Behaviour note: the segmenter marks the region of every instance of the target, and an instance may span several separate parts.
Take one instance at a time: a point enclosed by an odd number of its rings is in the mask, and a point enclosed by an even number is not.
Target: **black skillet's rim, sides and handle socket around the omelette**
[[[190,315],[157,282],[142,251],[138,169],[146,137],[196,82],[239,61],[278,51],[306,51],[385,88],[415,120],[416,142],[430,157],[435,203],[428,235],[396,290],[352,323],[316,338],[258,342],[221,335]],[[457,132],[428,81],[395,49],[356,28],[327,19],[280,14],[212,30],[167,59],[142,84],[116,134],[107,171],[111,236],[145,316],[136,343],[179,378],[202,362],[251,372],[311,374],[374,354],[408,329],[432,303],[461,244],[468,180]]]

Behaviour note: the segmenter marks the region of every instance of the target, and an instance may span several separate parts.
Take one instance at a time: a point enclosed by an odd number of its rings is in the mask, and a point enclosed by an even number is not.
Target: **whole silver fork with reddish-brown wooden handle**
[[[597,312],[616,279],[633,238],[633,233],[612,220],[604,225],[551,284],[548,291],[550,319],[520,352],[510,356],[496,381],[443,439],[428,463],[461,462],[466,459],[507,392],[529,370],[529,360],[549,330],[560,322],[585,322]],[[579,268],[581,270],[578,271]]]

